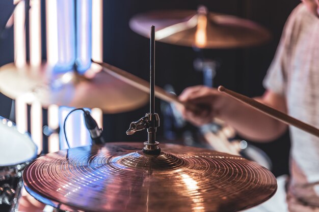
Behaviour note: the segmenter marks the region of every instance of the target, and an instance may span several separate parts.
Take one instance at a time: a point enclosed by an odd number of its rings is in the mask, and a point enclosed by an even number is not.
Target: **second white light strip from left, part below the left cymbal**
[[[38,154],[43,150],[43,137],[42,137],[42,105],[38,101],[31,104],[31,137],[35,144],[38,146]]]

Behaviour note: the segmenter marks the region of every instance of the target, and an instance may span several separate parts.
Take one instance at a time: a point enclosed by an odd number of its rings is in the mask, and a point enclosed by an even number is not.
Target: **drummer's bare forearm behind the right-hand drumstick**
[[[285,97],[267,90],[263,96],[255,98],[258,102],[273,107],[286,113]],[[287,130],[287,125],[265,115],[242,103],[235,103],[221,114],[221,118],[234,127],[236,131],[245,138],[268,142],[278,138]]]

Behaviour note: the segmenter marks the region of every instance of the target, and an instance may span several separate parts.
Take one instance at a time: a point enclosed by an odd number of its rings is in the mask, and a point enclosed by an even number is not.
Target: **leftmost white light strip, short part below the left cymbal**
[[[28,131],[28,113],[23,96],[15,99],[15,122],[20,133]]]

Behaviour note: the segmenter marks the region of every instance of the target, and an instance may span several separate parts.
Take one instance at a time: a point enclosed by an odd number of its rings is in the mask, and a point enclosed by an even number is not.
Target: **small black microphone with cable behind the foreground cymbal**
[[[91,116],[90,112],[85,110],[84,114],[84,121],[85,126],[90,132],[91,139],[94,144],[104,144],[105,141],[102,137],[103,130],[98,128],[94,118]]]

